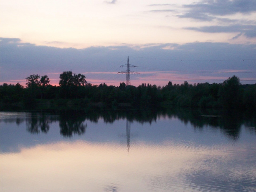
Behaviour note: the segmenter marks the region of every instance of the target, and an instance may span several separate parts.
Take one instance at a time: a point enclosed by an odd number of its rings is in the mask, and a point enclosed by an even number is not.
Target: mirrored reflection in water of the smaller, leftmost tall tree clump
[[[45,113],[32,113],[26,119],[27,130],[30,133],[47,133],[50,128],[50,123],[55,121],[54,116]]]

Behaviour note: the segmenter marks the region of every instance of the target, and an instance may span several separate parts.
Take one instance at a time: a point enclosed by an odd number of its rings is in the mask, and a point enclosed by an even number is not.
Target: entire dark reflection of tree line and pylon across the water
[[[127,119],[127,135],[130,122],[156,122],[158,118],[178,118],[185,125],[190,123],[195,129],[220,129],[232,140],[237,140],[241,127],[244,125],[256,131],[256,115],[244,114],[239,111],[199,111],[199,110],[130,110],[130,111],[61,111],[55,113],[29,113],[17,118],[0,118],[0,122],[16,122],[17,125],[26,121],[30,133],[47,133],[53,122],[59,122],[61,135],[71,137],[73,134],[84,134],[87,128],[85,121],[97,123],[103,119],[105,123],[114,123],[117,120]],[[127,142],[128,142],[127,138]]]

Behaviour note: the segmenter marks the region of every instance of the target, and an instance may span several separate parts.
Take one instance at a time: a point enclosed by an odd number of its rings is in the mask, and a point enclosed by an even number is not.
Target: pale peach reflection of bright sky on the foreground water
[[[243,146],[234,150],[232,145],[165,141],[161,145],[142,142],[127,155],[122,145],[113,142],[58,142],[24,148],[15,156],[2,154],[1,188],[12,192],[255,191],[255,155],[248,159],[249,153]]]

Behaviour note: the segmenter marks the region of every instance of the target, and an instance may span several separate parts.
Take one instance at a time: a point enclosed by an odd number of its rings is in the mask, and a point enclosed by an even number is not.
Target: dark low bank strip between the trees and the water
[[[62,111],[62,110],[75,110],[75,111],[90,111],[90,110],[123,110],[123,109],[139,109],[139,110],[194,110],[199,109],[203,111],[207,110],[228,110],[228,111],[243,111],[245,113],[256,113],[255,110],[248,110],[244,108],[232,109],[225,107],[180,107],[175,106],[173,102],[157,102],[154,106],[147,105],[134,105],[131,103],[118,103],[115,100],[110,103],[106,102],[91,102],[88,99],[56,99],[56,100],[31,100],[31,102],[16,102],[5,104],[0,102],[0,111]]]

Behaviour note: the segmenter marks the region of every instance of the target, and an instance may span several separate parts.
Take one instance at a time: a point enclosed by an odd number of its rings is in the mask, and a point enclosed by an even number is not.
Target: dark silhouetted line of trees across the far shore
[[[4,83],[0,85],[1,104],[21,103],[34,105],[38,100],[80,100],[83,103],[102,102],[109,107],[130,104],[145,107],[229,108],[256,110],[256,84],[242,85],[239,77],[232,76],[223,83],[182,84],[168,82],[166,86],[146,83],[135,87],[92,85],[83,74],[64,71],[59,86],[51,85],[47,76],[31,75],[26,86]]]

